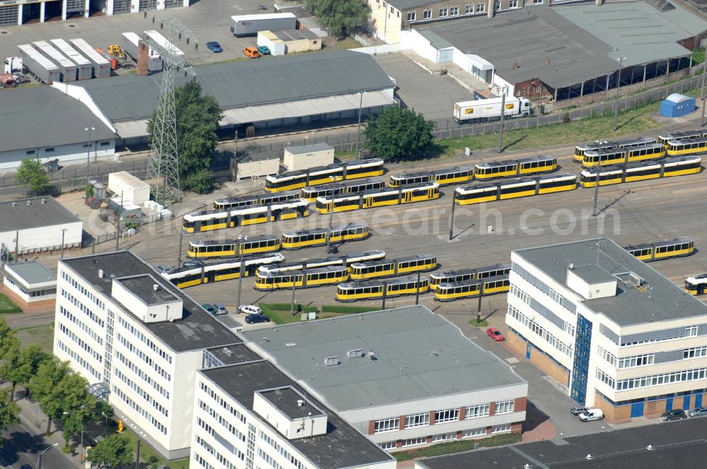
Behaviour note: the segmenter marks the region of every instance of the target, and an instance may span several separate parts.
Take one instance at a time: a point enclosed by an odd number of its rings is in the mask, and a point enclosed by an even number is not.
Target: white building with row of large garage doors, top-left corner
[[[189,6],[189,0],[0,0],[0,26]]]

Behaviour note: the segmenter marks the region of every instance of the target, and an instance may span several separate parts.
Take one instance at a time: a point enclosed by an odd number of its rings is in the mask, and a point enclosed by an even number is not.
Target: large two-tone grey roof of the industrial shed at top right
[[[682,20],[688,26],[674,24]],[[701,29],[699,23],[703,23]],[[539,78],[552,88],[613,73],[618,57],[626,57],[624,66],[629,66],[689,55],[689,50],[674,42],[696,35],[691,32],[695,29],[707,29],[707,23],[680,8],[660,13],[643,1],[604,2],[601,7],[593,3],[532,5],[503,11],[493,20],[463,18],[432,28],[462,52],[490,61],[506,81]],[[522,41],[499,41],[498,37]]]

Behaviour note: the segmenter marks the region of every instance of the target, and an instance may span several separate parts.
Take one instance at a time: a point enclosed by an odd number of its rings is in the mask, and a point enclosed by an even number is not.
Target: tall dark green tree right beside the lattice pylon
[[[211,162],[218,143],[218,121],[221,107],[216,98],[202,95],[201,84],[189,81],[175,89],[175,114],[177,117],[177,152],[180,185],[182,189],[204,194],[211,190]],[[148,121],[147,129],[154,138],[155,114]]]

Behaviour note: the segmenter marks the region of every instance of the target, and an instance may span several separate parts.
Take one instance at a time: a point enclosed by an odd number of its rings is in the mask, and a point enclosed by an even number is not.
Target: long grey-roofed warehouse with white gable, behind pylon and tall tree
[[[363,118],[395,104],[395,85],[372,57],[351,51],[322,52],[277,60],[238,61],[194,67],[204,93],[221,109],[221,132],[233,136],[327,121]],[[119,145],[147,141],[146,124],[158,105],[159,76],[116,76],[56,85],[110,122]],[[361,96],[363,93],[363,97]]]

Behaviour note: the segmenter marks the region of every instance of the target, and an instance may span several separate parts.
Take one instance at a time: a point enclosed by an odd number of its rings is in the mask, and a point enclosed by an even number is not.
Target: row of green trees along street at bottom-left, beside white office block
[[[0,389],[0,430],[18,423],[20,408],[14,402],[17,386],[25,388],[47,415],[47,434],[52,422],[62,422],[64,443],[82,431],[86,423],[112,415],[105,400],[88,393],[88,381],[74,373],[67,362],[42,350],[40,345],[21,345],[16,332],[0,317],[0,380],[11,384]],[[0,439],[0,447],[2,439]],[[101,440],[88,452],[88,461],[97,467],[118,467],[132,461],[132,446],[127,436],[115,434]]]

